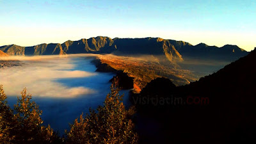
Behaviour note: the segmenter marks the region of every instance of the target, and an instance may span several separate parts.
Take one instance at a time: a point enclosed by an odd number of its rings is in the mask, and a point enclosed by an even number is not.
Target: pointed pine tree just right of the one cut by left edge
[[[40,117],[38,105],[31,102],[32,95],[27,94],[26,88],[22,90],[21,97],[18,97],[14,109],[17,114],[14,119],[17,122],[15,130],[15,143],[51,143],[54,137],[50,125],[44,127]]]

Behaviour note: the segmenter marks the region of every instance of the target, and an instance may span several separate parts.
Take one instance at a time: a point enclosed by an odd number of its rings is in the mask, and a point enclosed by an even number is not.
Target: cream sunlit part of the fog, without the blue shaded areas
[[[21,67],[0,69],[0,84],[3,84],[6,95],[17,96],[23,88],[36,97],[71,98],[94,93],[94,90],[79,87],[68,87],[54,80],[60,78],[90,77],[94,73],[74,68],[70,58],[56,56],[16,57],[21,60]]]

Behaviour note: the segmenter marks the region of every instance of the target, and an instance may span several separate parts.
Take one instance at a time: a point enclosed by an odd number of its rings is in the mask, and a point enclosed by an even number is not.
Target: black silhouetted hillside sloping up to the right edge
[[[132,98],[138,110],[136,124],[141,143],[255,143],[254,61],[256,49],[186,86],[166,88],[164,79],[148,83],[153,87],[146,90],[146,86],[138,97],[154,93],[151,97],[158,100],[169,97],[182,102],[150,103],[148,108]]]

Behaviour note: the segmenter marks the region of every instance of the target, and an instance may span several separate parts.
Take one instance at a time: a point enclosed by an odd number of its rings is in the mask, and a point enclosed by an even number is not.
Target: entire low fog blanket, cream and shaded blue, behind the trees
[[[10,106],[16,103],[23,88],[43,110],[44,124],[63,134],[82,112],[102,105],[109,93],[109,79],[114,74],[95,72],[91,55],[21,56],[18,67],[0,68],[0,84]],[[124,93],[124,92],[122,92]],[[122,94],[121,93],[121,94]],[[127,96],[127,91],[125,91]]]

